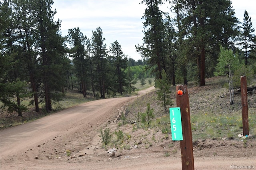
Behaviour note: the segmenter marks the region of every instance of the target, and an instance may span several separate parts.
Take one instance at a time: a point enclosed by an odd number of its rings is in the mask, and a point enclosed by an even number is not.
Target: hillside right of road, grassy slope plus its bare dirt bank
[[[242,133],[242,106],[240,93],[234,96],[234,104],[229,104],[228,89],[223,87],[224,77],[206,79],[206,86],[188,85],[190,115],[192,123],[192,137],[195,156],[255,156],[256,153],[256,93],[248,94],[249,128],[252,137],[242,140],[238,134]],[[176,107],[176,87],[172,87],[171,98]],[[114,131],[122,130],[130,135],[123,143],[116,142],[121,148],[128,148],[142,142],[141,152],[161,152],[163,155],[180,155],[179,142],[171,140],[169,113],[156,99],[156,90],[134,99],[125,106],[126,122],[138,120],[138,112],[146,110],[147,103],[154,109],[156,116],[150,128],[142,123],[122,125],[122,118],[118,123],[110,124]],[[116,137],[116,135],[114,135]],[[125,139],[125,137],[124,137]],[[113,143],[112,143],[113,144]],[[147,151],[150,150],[150,151]],[[228,151],[228,152],[226,152]]]

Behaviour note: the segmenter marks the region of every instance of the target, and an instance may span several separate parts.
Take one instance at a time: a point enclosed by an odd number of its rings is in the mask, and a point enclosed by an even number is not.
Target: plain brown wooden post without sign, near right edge
[[[243,136],[245,136],[249,134],[246,76],[241,76],[240,81],[241,81],[241,99],[242,99]]]

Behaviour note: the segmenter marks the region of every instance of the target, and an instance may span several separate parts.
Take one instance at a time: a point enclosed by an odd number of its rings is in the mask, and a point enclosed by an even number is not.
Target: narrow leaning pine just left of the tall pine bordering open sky
[[[22,47],[22,53],[20,53],[20,59],[24,60],[26,64],[26,72],[28,73],[27,81],[30,82],[31,89],[33,92],[34,102],[36,112],[39,112],[39,102],[38,102],[38,87],[40,82],[40,77],[38,76],[38,52],[34,50],[35,45],[35,28],[36,22],[32,13],[32,1],[22,0],[13,1],[14,2],[14,18],[17,25],[17,31],[20,37],[20,46]]]

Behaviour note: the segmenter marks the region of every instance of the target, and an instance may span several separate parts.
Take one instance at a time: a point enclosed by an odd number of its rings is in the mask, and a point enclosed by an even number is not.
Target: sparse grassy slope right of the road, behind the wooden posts
[[[228,89],[223,87],[224,77],[213,77],[206,80],[206,86],[198,87],[194,83],[189,83],[188,91],[190,97],[190,117],[192,127],[193,141],[212,139],[221,140],[222,138],[234,140],[238,139],[238,134],[242,133],[242,109],[240,93],[234,97],[234,104],[229,105],[229,92]],[[256,79],[254,83],[256,83]],[[171,95],[176,103],[175,87],[171,90],[174,95]],[[222,98],[220,98],[222,96]],[[170,135],[170,117],[169,113],[165,113],[158,105],[156,94],[150,94],[140,97],[135,100],[128,107],[128,119],[135,119],[132,113],[136,115],[138,112],[143,112],[146,108],[146,103],[150,103],[154,109],[154,119],[151,127],[162,131],[162,135]],[[248,95],[248,119],[249,119],[249,133],[256,137],[256,98],[255,94]],[[143,108],[143,109],[137,109]],[[166,115],[167,114],[167,115]],[[138,125],[140,123],[138,122]],[[137,128],[143,128],[137,126]]]

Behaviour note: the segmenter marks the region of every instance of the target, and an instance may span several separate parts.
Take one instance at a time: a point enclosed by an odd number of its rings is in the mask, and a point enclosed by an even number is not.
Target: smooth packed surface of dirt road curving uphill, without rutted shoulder
[[[154,87],[138,91],[138,94],[143,95],[152,89],[154,89]],[[96,126],[94,124],[99,125],[108,120],[113,120],[116,115],[109,113],[112,107],[118,106],[134,97],[90,101],[30,123],[1,130],[1,162],[7,156],[16,155],[28,148],[38,146],[38,144],[44,143],[49,138],[76,132],[78,128],[77,125],[86,124],[92,127]]]

